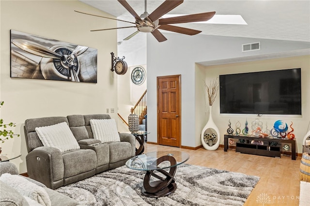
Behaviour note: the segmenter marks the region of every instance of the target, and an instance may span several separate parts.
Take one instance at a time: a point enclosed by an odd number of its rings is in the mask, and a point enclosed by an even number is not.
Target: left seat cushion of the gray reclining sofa
[[[64,178],[72,177],[96,168],[96,153],[92,149],[76,149],[62,154]]]

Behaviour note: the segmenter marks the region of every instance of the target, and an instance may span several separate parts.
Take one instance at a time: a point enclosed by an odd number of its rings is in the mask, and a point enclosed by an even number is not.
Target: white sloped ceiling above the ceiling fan
[[[80,1],[119,19],[135,22],[134,17],[117,0]],[[144,0],[127,2],[138,15],[144,12]],[[164,0],[147,0],[148,13],[152,13],[162,2]],[[178,26],[202,30],[200,34],[205,35],[310,42],[310,0],[184,0],[168,14],[189,15],[211,11],[216,11],[218,15],[242,15],[248,25],[186,23]],[[94,18],[98,18],[98,27],[93,29],[108,29],[100,25],[99,17]],[[127,26],[132,24],[128,23]],[[135,30],[118,29],[118,41]]]

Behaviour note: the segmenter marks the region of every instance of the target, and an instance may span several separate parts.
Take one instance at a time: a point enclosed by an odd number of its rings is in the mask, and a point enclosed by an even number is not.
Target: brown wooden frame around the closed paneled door
[[[182,145],[181,145],[181,140],[182,140],[182,108],[181,108],[181,74],[175,74],[175,75],[167,75],[167,76],[157,76],[156,77],[156,92],[157,92],[157,108],[156,108],[156,113],[157,113],[157,144],[159,145],[159,92],[158,92],[158,89],[159,89],[159,84],[158,84],[158,82],[159,82],[159,79],[160,78],[169,78],[169,77],[178,77],[179,78],[179,91],[178,91],[178,93],[179,93],[179,125],[180,125],[180,127],[179,127],[179,134],[180,134],[180,138],[179,138],[179,148],[181,148],[182,147]]]

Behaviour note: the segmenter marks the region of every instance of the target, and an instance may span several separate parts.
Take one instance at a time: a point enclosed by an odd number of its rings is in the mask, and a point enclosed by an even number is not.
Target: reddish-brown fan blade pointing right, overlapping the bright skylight
[[[195,15],[175,16],[170,18],[160,18],[158,25],[163,24],[179,24],[188,22],[207,21],[215,15],[215,12],[206,12]]]

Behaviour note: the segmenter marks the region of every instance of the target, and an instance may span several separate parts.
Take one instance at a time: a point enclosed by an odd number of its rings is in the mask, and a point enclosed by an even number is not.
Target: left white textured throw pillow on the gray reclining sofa
[[[44,146],[58,148],[61,152],[80,148],[66,122],[46,127],[36,127],[35,132],[37,132]]]

